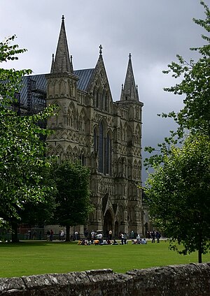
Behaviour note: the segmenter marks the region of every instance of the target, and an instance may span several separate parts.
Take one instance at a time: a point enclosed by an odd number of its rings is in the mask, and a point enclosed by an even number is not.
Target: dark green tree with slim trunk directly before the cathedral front
[[[71,226],[87,222],[90,205],[90,170],[79,163],[64,161],[52,167],[57,185],[55,222],[66,227],[66,241]]]

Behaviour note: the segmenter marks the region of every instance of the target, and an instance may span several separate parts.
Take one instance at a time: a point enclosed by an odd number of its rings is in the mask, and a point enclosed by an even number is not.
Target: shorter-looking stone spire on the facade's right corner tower
[[[138,87],[136,87],[135,80],[134,80],[131,57],[132,55],[129,54],[127,73],[125,76],[124,87],[122,84],[120,101],[132,101],[132,100],[139,101]]]

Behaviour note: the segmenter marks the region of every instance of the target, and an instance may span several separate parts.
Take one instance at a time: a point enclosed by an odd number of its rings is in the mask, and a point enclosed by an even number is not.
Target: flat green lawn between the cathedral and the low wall
[[[163,265],[197,262],[197,253],[181,256],[168,249],[169,243],[118,246],[78,246],[75,242],[0,244],[0,277],[76,272],[111,268],[127,272]],[[210,254],[203,256],[210,262]]]

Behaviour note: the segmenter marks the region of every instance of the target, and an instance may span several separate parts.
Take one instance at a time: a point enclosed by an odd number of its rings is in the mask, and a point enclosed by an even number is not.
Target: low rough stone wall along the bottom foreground
[[[208,296],[210,263],[134,269],[126,274],[101,269],[0,278],[0,295]]]

